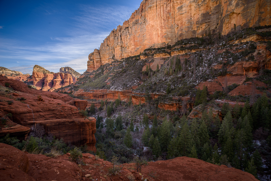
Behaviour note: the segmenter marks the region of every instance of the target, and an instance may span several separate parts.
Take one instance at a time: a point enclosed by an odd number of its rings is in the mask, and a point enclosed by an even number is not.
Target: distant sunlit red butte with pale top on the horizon
[[[72,70],[73,69],[71,68],[64,68],[62,71],[69,71],[70,73],[72,73],[74,71]],[[76,71],[74,71],[73,73],[78,73],[75,72]],[[33,85],[35,85],[39,90],[52,92],[53,90],[58,89],[62,86],[71,85],[76,82],[76,77],[70,73],[54,73],[46,70],[41,66],[35,65],[33,68],[32,79],[29,79],[29,81],[33,81]],[[78,75],[76,74],[76,76]]]

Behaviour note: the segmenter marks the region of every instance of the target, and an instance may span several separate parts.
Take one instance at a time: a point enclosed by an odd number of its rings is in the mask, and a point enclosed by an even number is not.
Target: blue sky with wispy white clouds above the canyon
[[[24,74],[34,65],[83,73],[88,55],[141,1],[0,0],[0,66]]]

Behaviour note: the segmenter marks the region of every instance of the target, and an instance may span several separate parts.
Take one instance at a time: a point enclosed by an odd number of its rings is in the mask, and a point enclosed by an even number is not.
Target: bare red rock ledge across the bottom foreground
[[[150,173],[155,173],[155,180],[203,180],[203,181],[227,181],[227,180],[251,180],[257,179],[250,173],[228,168],[225,165],[214,165],[195,158],[177,157],[166,161],[149,162],[141,172],[134,171],[134,164],[123,164],[119,174],[103,174],[103,170],[112,167],[112,163],[95,160],[95,156],[89,153],[83,154],[84,163],[78,167],[76,163],[68,160],[67,155],[50,158],[44,155],[24,153],[13,146],[0,143],[0,175],[2,180],[88,180],[91,176],[94,180],[125,180],[128,175],[135,180],[148,178],[153,180]],[[91,169],[89,169],[91,167]],[[101,173],[102,172],[102,173]],[[84,177],[85,176],[85,177]]]

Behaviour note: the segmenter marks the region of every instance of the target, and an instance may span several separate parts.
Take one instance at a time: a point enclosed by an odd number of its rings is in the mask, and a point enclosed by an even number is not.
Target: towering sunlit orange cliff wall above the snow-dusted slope
[[[138,55],[144,49],[164,46],[183,38],[234,29],[270,25],[269,0],[144,0],[130,19],[89,55],[91,72],[112,59]]]

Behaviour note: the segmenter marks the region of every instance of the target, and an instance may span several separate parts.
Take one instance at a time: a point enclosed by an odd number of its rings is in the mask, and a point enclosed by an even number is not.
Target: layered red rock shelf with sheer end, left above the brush
[[[96,151],[96,119],[94,117],[83,117],[78,109],[85,110],[86,100],[74,99],[67,94],[56,92],[45,92],[27,87],[21,81],[7,79],[0,76],[0,85],[10,84],[14,92],[1,95],[0,113],[6,115],[12,113],[12,121],[16,124],[36,129],[36,124],[44,126],[46,134],[52,133],[56,138],[63,138],[73,145],[87,145],[89,150]],[[39,99],[38,99],[39,96]],[[25,98],[19,101],[17,98]],[[13,101],[8,104],[7,101]],[[16,125],[15,125],[16,126]],[[2,131],[2,130],[1,130]],[[23,130],[16,132],[15,128],[5,130],[0,134],[17,134],[21,139],[27,134]],[[4,131],[4,130],[3,130]]]

